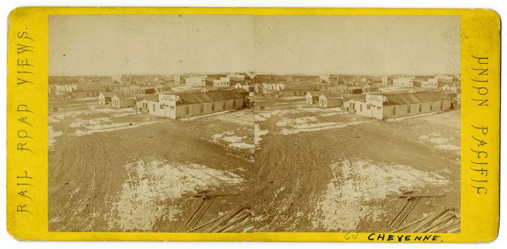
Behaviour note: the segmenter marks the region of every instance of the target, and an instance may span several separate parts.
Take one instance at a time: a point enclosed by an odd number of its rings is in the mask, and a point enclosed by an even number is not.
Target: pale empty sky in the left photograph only
[[[49,74],[252,71],[252,31],[250,15],[49,16]]]

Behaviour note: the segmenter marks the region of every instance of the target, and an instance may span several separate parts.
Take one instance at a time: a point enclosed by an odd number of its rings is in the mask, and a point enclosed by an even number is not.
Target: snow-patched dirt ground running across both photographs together
[[[459,110],[381,121],[260,100],[192,120],[50,100],[49,231],[186,231],[201,200],[183,194],[202,191],[240,195],[217,198],[199,224],[249,206],[260,232],[390,231],[402,191],[445,195],[404,224],[459,213]]]

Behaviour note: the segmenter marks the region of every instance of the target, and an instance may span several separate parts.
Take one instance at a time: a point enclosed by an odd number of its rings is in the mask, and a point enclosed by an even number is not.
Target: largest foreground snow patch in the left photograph
[[[125,165],[128,179],[113,204],[115,217],[109,218],[110,228],[124,231],[151,231],[156,221],[184,219],[182,194],[195,189],[223,189],[239,185],[243,179],[231,172],[195,163],[165,160],[138,160]]]

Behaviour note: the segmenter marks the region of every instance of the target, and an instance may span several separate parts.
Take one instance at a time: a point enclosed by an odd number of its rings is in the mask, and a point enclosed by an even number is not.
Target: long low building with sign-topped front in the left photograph
[[[148,102],[152,115],[180,119],[241,109],[247,106],[243,89],[212,91],[208,93],[159,94],[158,101]]]

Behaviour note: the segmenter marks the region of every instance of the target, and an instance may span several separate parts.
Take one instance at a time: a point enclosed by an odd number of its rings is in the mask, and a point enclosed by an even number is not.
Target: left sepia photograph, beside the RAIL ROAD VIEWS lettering
[[[251,232],[253,16],[48,21],[49,232]]]

